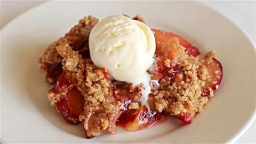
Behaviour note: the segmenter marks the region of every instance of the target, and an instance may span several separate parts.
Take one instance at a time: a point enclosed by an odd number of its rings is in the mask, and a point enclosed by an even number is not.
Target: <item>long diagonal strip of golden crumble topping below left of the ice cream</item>
[[[63,70],[77,81],[76,86],[84,95],[84,111],[79,121],[83,123],[87,137],[97,137],[105,132],[115,133],[115,121],[121,103],[110,93],[110,80],[102,69],[94,66],[90,59],[82,59],[82,55],[70,46],[57,47],[57,51],[63,58]]]

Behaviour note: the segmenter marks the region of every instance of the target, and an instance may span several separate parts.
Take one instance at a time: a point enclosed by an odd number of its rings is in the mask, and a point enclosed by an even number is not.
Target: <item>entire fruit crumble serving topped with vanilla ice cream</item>
[[[93,138],[116,133],[116,125],[145,129],[167,114],[191,123],[222,79],[215,51],[198,55],[185,38],[150,29],[139,15],[89,16],[46,48],[39,71],[54,85],[51,106]]]

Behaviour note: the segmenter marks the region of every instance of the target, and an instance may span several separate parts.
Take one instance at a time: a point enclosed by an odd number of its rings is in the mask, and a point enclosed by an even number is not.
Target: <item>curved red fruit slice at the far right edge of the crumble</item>
[[[207,55],[207,54],[206,54]],[[204,90],[202,95],[203,96],[208,96],[210,95],[210,88],[212,88],[213,91],[217,90],[219,88],[219,85],[222,80],[222,65],[221,63],[215,59],[205,59],[204,62],[202,62],[202,65],[204,65],[209,73],[210,78],[207,79]]]

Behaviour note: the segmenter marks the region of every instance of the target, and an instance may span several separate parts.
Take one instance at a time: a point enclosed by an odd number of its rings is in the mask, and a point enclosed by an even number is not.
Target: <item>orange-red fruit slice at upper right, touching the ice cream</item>
[[[185,51],[187,54],[193,55],[194,57],[200,54],[197,47],[193,46],[189,41],[187,41],[187,39],[177,34],[158,29],[152,29],[152,31],[156,38],[156,51],[161,50],[162,46],[167,43],[169,38],[177,37],[179,39],[180,45],[186,48]]]

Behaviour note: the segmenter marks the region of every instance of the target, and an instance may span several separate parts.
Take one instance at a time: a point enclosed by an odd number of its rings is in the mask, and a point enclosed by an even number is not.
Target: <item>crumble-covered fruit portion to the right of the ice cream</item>
[[[186,39],[163,30],[153,31],[157,44],[154,76],[161,85],[158,91],[162,91],[155,95],[155,106],[190,124],[208,101],[203,96],[212,97],[213,91],[218,89],[221,63],[214,58],[214,51],[199,61],[195,58],[198,49]]]

